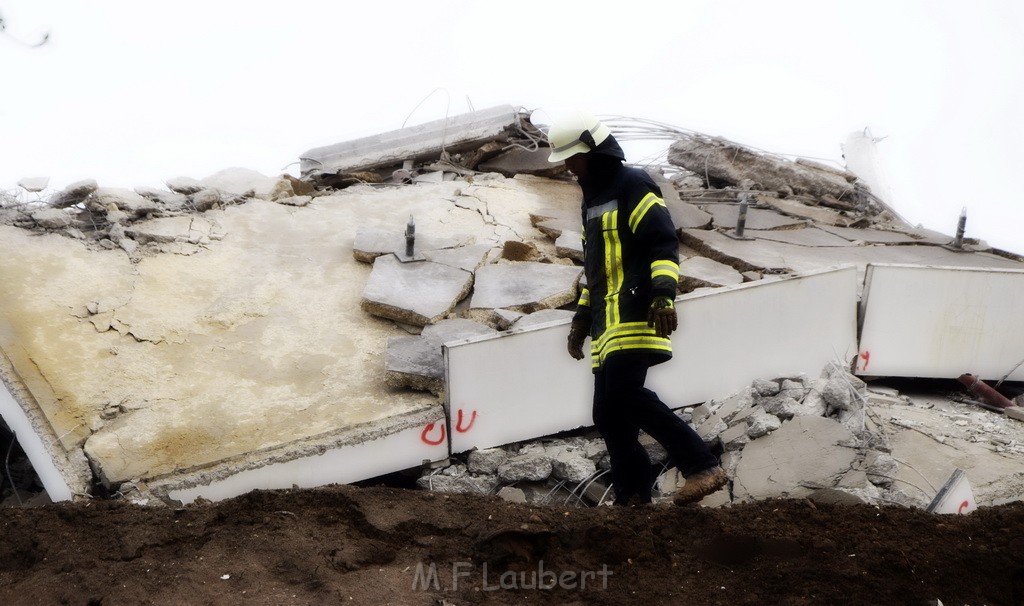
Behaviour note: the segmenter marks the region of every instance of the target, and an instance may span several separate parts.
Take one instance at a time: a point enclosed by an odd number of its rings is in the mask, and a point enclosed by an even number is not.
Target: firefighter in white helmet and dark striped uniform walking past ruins
[[[672,357],[678,318],[679,240],[662,191],[626,156],[608,127],[573,114],[548,132],[548,161],[564,162],[581,189],[584,273],[568,352],[583,359],[591,338],[594,425],[611,461],[615,505],[651,501],[654,482],[640,430],[657,440],[686,478],[677,505],[695,503],[727,481],[693,428],[644,387],[647,369]]]

